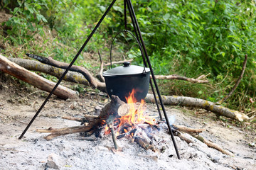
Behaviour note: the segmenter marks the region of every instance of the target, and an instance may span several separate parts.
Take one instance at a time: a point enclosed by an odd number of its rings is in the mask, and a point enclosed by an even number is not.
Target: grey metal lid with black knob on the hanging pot
[[[124,62],[123,66],[115,67],[103,72],[103,76],[119,76],[119,75],[130,75],[130,74],[142,74],[144,67],[137,65],[130,65],[129,62]],[[146,72],[150,72],[149,68],[145,68]]]

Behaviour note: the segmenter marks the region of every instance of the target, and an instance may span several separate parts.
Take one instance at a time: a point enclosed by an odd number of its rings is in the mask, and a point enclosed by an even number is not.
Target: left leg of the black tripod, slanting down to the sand
[[[55,91],[55,89],[57,89],[58,85],[60,84],[60,82],[63,80],[63,78],[65,77],[65,75],[68,73],[68,70],[70,70],[70,68],[72,67],[72,65],[74,64],[75,60],[78,59],[78,56],[80,55],[80,53],[82,52],[82,50],[85,48],[85,45],[87,45],[87,43],[89,42],[90,38],[92,38],[92,35],[95,33],[95,31],[97,30],[97,28],[99,28],[100,23],[102,23],[102,21],[104,20],[105,16],[107,16],[107,13],[110,11],[110,8],[112,8],[112,6],[114,5],[114,2],[116,0],[113,0],[112,3],[110,4],[110,6],[107,8],[107,11],[105,11],[105,13],[103,14],[102,18],[100,18],[100,21],[97,23],[97,25],[95,26],[95,28],[92,30],[92,33],[90,33],[90,35],[88,36],[87,40],[85,40],[85,43],[82,45],[82,47],[80,48],[80,50],[78,51],[78,54],[75,55],[74,59],[72,60],[72,62],[70,63],[70,65],[68,66],[68,68],[65,70],[65,72],[63,73],[63,75],[60,77],[60,79],[58,80],[57,84],[53,87],[53,90],[50,91],[50,94],[48,95],[48,97],[46,98],[46,100],[43,102],[42,106],[38,109],[38,111],[36,112],[36,114],[33,116],[33,118],[31,119],[30,123],[28,123],[26,129],[22,132],[21,136],[18,137],[18,140],[21,140],[21,138],[23,137],[23,135],[25,135],[26,131],[28,130],[28,128],[32,125],[33,121],[36,119],[36,117],[38,116],[38,114],[41,112],[41,110],[43,109],[43,107],[46,105],[47,101],[49,100],[50,96],[53,95],[53,92]]]

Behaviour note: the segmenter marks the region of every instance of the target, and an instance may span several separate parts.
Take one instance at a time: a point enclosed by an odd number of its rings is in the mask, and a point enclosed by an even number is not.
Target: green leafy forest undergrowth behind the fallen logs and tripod
[[[1,26],[0,43],[4,47],[0,52],[6,57],[23,58],[28,52],[71,62],[110,3],[103,0],[3,0],[0,10],[11,14],[11,18]],[[195,78],[206,74],[210,81],[209,84],[191,84],[158,80],[162,94],[220,101],[240,77],[247,54],[242,81],[223,106],[250,117],[256,115],[256,1],[132,0],[132,3],[154,73]],[[85,52],[97,55],[99,50],[104,60],[109,61],[112,38],[124,29],[123,6],[124,1],[114,4]],[[130,18],[128,29],[133,30]],[[49,33],[53,38],[49,38]],[[129,35],[119,36],[115,45],[119,58],[124,55],[134,59],[134,64],[143,64],[137,44]],[[92,72],[100,67],[100,62],[90,64],[82,55],[75,64]],[[56,81],[55,77],[41,75]],[[75,86],[75,89],[84,90],[82,86]]]

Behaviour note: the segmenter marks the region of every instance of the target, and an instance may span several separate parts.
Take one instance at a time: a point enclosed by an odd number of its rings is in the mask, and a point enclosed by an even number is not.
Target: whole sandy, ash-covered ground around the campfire
[[[53,96],[23,139],[18,140],[46,94],[21,84],[10,86],[4,79],[0,82],[0,169],[53,169],[54,166],[48,162],[50,155],[53,155],[58,169],[256,169],[256,149],[249,146],[255,141],[255,134],[232,125],[227,127],[220,120],[215,120],[213,113],[198,115],[186,108],[166,107],[166,111],[171,120],[175,119],[176,125],[206,128],[201,135],[232,152],[232,157],[196,139],[193,139],[195,143],[187,144],[175,137],[181,155],[179,160],[171,137],[166,133],[166,125],[156,132],[159,140],[156,147],[165,149],[161,154],[144,150],[125,137],[117,140],[122,152],[112,152],[109,149],[113,147],[111,135],[87,141],[78,140],[80,134],[73,134],[47,141],[43,138],[46,134],[36,132],[41,128],[80,125],[72,120],[63,120],[63,115],[97,115],[95,107],[104,106],[108,100],[91,92],[68,101]],[[147,107],[146,113],[158,115],[154,105],[147,104]]]

